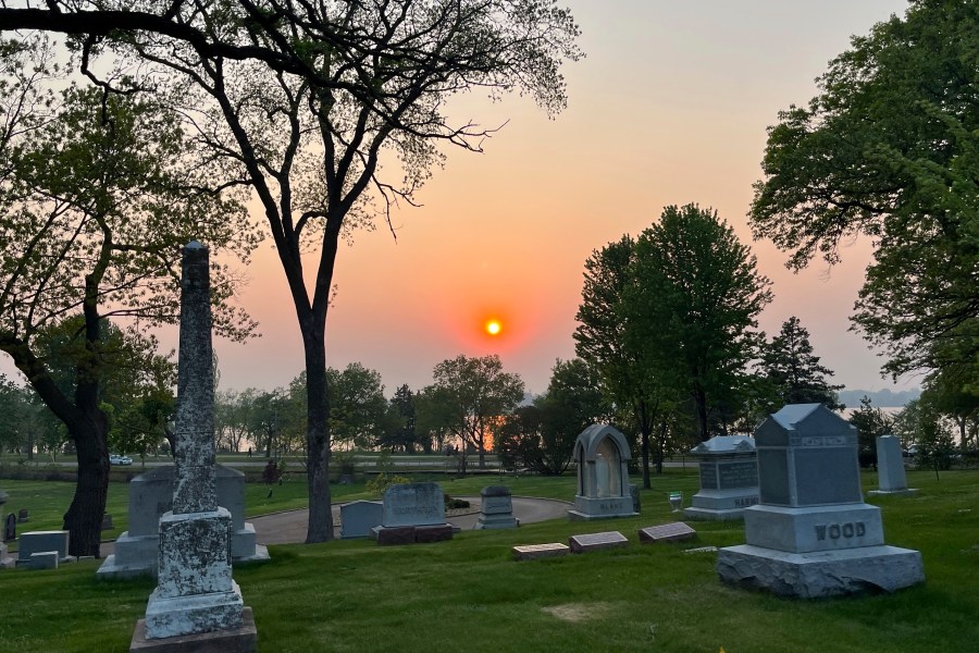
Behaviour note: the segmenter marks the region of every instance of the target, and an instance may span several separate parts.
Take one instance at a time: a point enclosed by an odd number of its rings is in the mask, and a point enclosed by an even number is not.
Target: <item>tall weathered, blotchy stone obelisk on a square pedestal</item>
[[[184,247],[173,510],[160,518],[157,589],[131,651],[255,651],[250,608],[232,579],[232,516],[218,505],[208,249]],[[154,641],[156,640],[156,641]]]

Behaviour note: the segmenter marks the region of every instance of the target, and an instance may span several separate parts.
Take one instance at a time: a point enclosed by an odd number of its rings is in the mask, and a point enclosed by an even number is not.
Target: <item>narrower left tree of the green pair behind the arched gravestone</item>
[[[625,336],[630,316],[624,295],[633,283],[634,258],[635,241],[627,234],[593,251],[585,261],[574,352],[598,370],[607,401],[630,411],[642,440],[643,488],[648,489],[649,441],[657,421],[671,406],[671,397],[648,350]],[[661,452],[662,446],[657,446],[657,451]],[[657,458],[657,472],[662,472],[661,456]]]

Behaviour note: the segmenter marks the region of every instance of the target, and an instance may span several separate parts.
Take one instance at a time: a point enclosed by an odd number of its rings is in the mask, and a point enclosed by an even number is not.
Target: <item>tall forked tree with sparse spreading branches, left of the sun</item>
[[[0,9],[0,29],[78,36],[83,70],[94,77],[98,53],[138,61],[135,88],[176,73],[173,101],[255,189],[305,349],[307,541],[332,539],[324,335],[339,239],[369,223],[372,199],[382,212],[413,204],[443,159],[441,146],[481,151],[495,130],[448,120],[450,96],[517,90],[549,114],[560,111],[559,69],[581,56],[578,26],[554,0],[48,7]],[[401,183],[380,174],[387,157]]]

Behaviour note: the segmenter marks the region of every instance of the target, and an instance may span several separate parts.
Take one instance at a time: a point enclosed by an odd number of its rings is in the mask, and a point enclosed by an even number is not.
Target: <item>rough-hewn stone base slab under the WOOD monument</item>
[[[717,572],[729,584],[798,599],[893,592],[925,582],[921,554],[888,545],[786,553],[742,544],[718,551]]]

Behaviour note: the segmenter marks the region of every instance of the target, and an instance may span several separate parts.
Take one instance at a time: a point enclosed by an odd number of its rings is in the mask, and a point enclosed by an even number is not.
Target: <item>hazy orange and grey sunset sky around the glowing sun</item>
[[[355,234],[337,257],[327,365],[377,370],[385,394],[432,382],[460,354],[497,354],[528,390],[547,387],[555,360],[574,356],[574,315],[591,254],[636,235],[665,206],[712,207],[751,243],[746,213],[761,176],[766,128],[816,94],[814,79],[904,0],[563,0],[586,53],[563,69],[569,106],[555,120],[528,98],[473,94],[450,115],[503,125],[483,153],[446,150],[419,208]],[[843,263],[796,274],[788,255],[752,243],[774,300],[771,336],[797,316],[821,362],[847,389],[906,389],[881,378],[884,360],[850,331],[870,244]],[[265,244],[246,270],[239,304],[260,323],[246,344],[215,341],[221,390],[282,386],[302,369],[283,272]],[[500,321],[496,336],[485,333]],[[172,333],[163,335],[175,345]],[[9,361],[4,361],[9,362]]]

